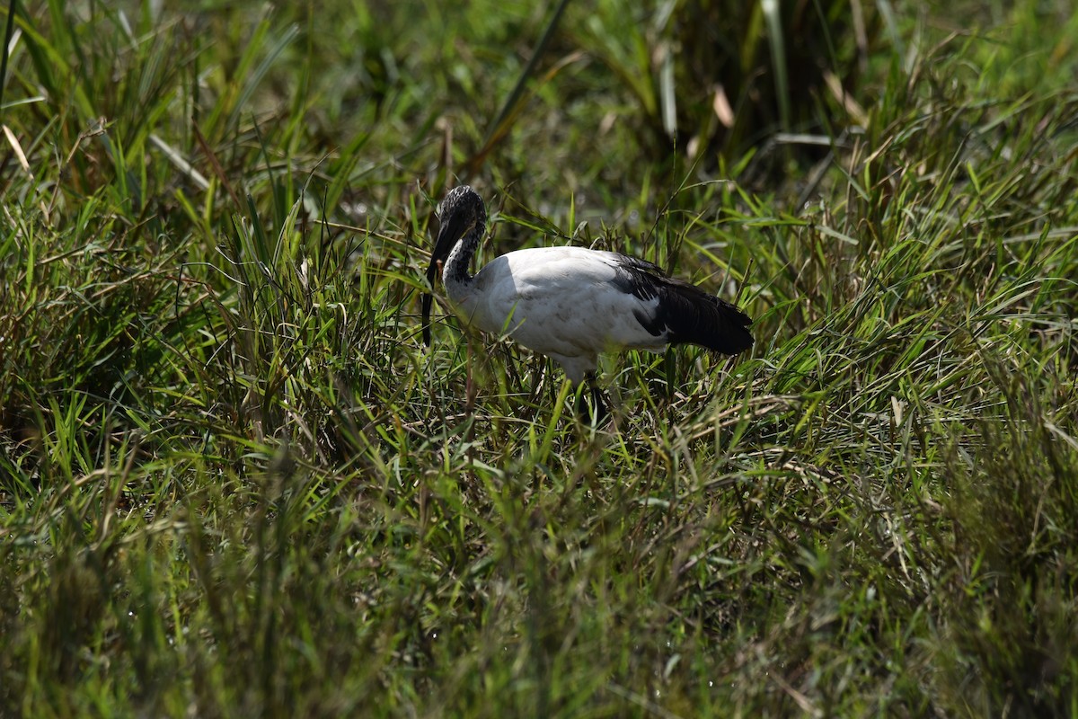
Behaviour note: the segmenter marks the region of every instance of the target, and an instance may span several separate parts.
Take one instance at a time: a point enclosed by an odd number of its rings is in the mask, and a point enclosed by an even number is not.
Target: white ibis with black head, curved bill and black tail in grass
[[[483,198],[468,185],[445,194],[438,218],[427,269],[431,291],[441,272],[450,302],[466,323],[550,357],[573,390],[586,379],[596,421],[607,414],[595,384],[600,354],[661,352],[668,345],[693,344],[737,355],[752,346],[751,319],[736,306],[618,252],[566,246],[515,250],[470,275],[487,213]],[[423,298],[427,346],[432,301],[430,293]]]

